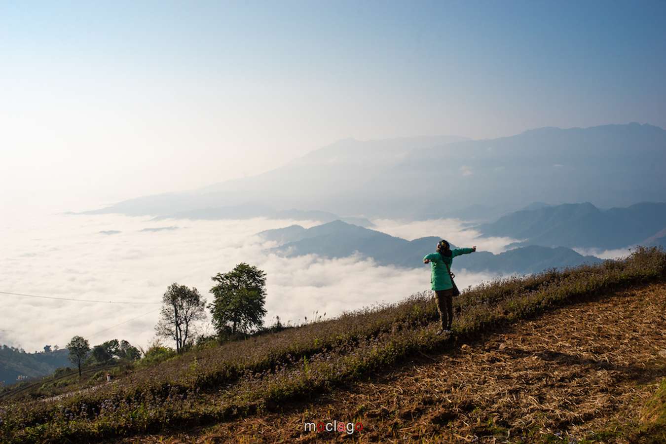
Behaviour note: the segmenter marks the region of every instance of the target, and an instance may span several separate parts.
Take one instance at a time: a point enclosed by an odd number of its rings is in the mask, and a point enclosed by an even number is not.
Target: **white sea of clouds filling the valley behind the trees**
[[[478,233],[465,230],[458,220],[374,222],[376,229],[394,236],[445,236],[458,246],[475,244],[496,253],[512,241],[476,239]],[[329,260],[268,254],[266,249],[276,244],[256,233],[294,223],[309,227],[319,222],[264,218],[154,222],[147,217],[67,214],[5,219],[0,225],[1,292],[146,304],[0,294],[4,301],[0,343],[34,351],[45,344],[63,347],[74,335],[83,335],[91,345],[118,338],[145,347],[155,339],[159,302],[168,285],[196,287],[210,302],[210,277],[239,262],[267,274],[266,324],[276,316],[284,323],[300,324],[315,312],[333,318],[345,311],[398,302],[430,288],[428,266],[405,270],[358,256]],[[465,270],[456,270],[456,276],[461,288],[496,277]],[[209,323],[200,330],[212,332]]]

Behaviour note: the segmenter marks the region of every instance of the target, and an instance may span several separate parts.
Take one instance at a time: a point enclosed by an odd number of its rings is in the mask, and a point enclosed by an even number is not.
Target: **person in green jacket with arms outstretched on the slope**
[[[451,333],[451,324],[454,320],[454,284],[451,279],[451,264],[456,256],[476,252],[476,245],[472,248],[456,248],[451,250],[446,240],[440,240],[437,244],[437,252],[430,253],[423,258],[424,264],[430,264],[430,284],[435,290],[435,302],[437,311],[440,312],[440,323],[442,328],[437,332]]]

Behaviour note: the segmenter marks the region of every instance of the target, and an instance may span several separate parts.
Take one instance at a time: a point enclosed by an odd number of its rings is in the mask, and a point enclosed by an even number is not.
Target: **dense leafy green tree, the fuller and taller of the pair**
[[[241,262],[228,273],[211,278],[213,302],[208,306],[219,335],[248,333],[263,325],[266,315],[266,273]]]

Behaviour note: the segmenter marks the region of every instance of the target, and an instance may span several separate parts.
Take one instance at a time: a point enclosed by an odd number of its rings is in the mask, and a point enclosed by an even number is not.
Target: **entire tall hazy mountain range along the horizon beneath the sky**
[[[663,200],[665,168],[666,131],[649,124],[539,128],[486,140],[346,139],[257,176],[94,212],[238,218],[264,206],[490,220],[534,201],[610,207]]]

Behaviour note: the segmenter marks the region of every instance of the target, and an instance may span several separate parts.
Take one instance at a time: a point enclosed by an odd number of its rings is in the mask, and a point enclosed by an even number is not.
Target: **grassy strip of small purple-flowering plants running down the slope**
[[[482,284],[456,299],[470,337],[623,286],[662,280],[666,254]],[[0,405],[3,442],[99,441],[185,429],[313,399],[413,353],[441,349],[430,294],[246,341],[198,349],[65,397]]]

